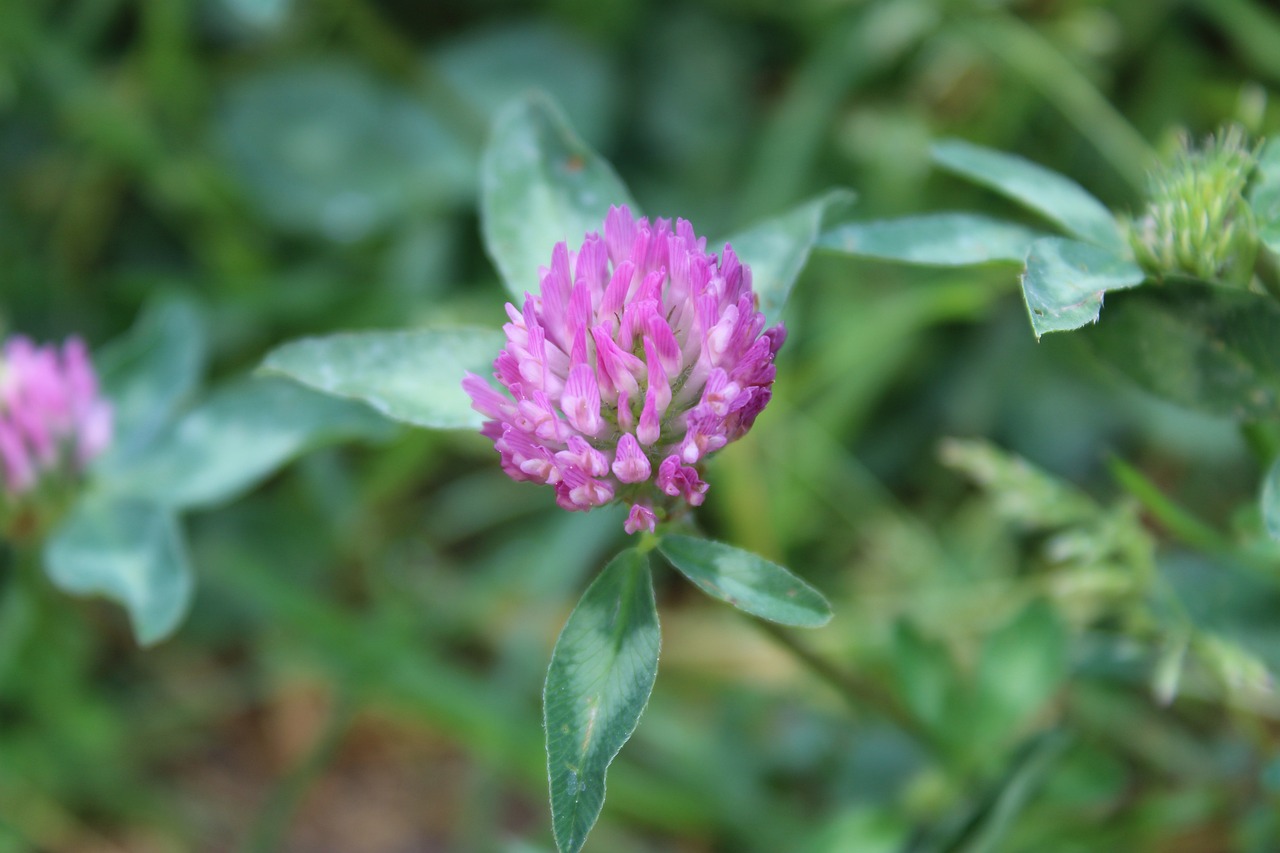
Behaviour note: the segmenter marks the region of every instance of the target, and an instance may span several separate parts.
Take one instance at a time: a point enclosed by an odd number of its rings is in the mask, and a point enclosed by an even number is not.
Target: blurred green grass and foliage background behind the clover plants
[[[931,170],[942,136],[1134,211],[1179,129],[1274,131],[1277,82],[1251,0],[9,0],[0,327],[100,346],[182,295],[216,386],[302,334],[498,325],[476,161],[531,86],[714,238],[831,186],[1024,218]],[[586,849],[1280,849],[1280,560],[1235,428],[1037,343],[1007,266],[818,255],[786,319],[700,517],[836,619],[774,637],[659,573]],[[152,649],[51,589],[0,613],[0,850],[552,849],[541,679],[621,515],[495,461],[406,429],[189,515]]]

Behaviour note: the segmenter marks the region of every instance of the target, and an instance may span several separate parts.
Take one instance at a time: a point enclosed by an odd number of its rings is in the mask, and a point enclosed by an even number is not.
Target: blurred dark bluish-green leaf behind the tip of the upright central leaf
[[[500,23],[460,33],[434,56],[462,99],[492,118],[530,88],[550,95],[584,137],[608,137],[617,74],[593,45],[543,20]]]

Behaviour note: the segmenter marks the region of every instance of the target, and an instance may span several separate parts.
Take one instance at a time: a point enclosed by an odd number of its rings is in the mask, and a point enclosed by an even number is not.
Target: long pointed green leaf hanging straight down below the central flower
[[[605,771],[649,702],[659,642],[649,558],[623,551],[570,613],[547,670],[547,775],[561,853],[577,853],[600,816]]]

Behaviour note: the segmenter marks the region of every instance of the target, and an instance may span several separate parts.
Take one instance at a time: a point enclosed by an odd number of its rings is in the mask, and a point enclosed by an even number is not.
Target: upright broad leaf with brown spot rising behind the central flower
[[[531,93],[494,120],[480,161],[480,225],[507,291],[536,293],[538,269],[564,241],[599,233],[611,205],[639,213],[613,168],[570,129],[559,109]]]

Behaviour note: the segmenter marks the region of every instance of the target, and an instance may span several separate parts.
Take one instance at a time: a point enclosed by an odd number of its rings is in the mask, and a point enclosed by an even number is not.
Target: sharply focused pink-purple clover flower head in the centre
[[[701,461],[769,402],[786,338],[764,328],[733,250],[705,247],[684,219],[625,206],[576,252],[556,245],[540,293],[507,305],[494,375],[509,397],[462,383],[507,474],[554,487],[566,510],[630,502],[627,533],[703,502]]]

